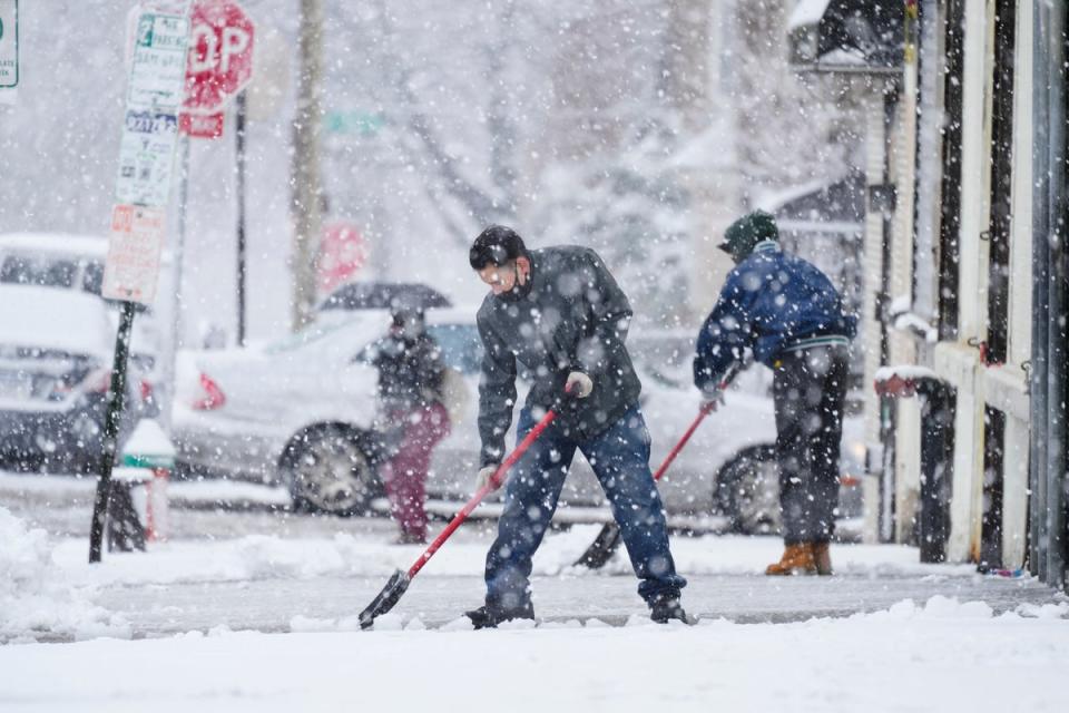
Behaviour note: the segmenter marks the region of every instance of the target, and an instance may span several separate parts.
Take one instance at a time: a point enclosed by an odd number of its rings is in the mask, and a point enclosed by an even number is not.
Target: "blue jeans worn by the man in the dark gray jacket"
[[[523,409],[517,439],[522,440],[534,423],[530,411]],[[556,423],[550,424],[512,467],[498,538],[487,554],[487,606],[511,609],[530,605],[531,557],[557,509],[577,448],[612,507],[631,566],[641,580],[639,596],[653,605],[658,598],[678,598],[686,586],[668,551],[664,506],[649,471],[649,431],[635,404],[607,430],[585,441],[567,438]]]

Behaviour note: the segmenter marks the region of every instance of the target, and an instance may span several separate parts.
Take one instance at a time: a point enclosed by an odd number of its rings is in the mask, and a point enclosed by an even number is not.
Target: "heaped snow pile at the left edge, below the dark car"
[[[0,507],[0,641],[49,636],[129,636],[129,627],[69,588],[45,530]]]

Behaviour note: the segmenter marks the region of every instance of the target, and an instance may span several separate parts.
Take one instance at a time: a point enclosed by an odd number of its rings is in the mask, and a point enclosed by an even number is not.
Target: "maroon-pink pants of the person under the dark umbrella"
[[[381,470],[390,507],[401,531],[419,539],[426,537],[426,471],[431,452],[449,434],[449,413],[435,403],[410,411],[404,419],[404,436],[398,455]]]

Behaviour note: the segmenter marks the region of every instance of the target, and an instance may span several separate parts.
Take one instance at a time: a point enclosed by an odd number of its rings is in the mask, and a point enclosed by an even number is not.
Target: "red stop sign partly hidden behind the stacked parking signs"
[[[182,109],[212,114],[253,77],[253,21],[234,0],[196,0],[189,20]]]

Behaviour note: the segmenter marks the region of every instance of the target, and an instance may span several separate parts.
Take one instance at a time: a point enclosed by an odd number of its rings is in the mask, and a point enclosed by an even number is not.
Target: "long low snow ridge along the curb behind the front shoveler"
[[[534,556],[533,574],[555,577],[632,576],[622,548],[599,572],[575,567],[586,547],[600,530],[598,525],[575,526],[553,533]],[[450,540],[428,565],[433,576],[478,575],[483,570],[487,537],[464,533]],[[752,575],[764,570],[779,556],[782,543],[771,537],[675,538],[671,544],[679,572],[690,575]],[[389,577],[408,569],[423,551],[422,546],[389,546],[379,538],[333,537],[288,538],[248,535],[235,539],[176,540],[153,543],[148,553],[114,554],[100,565],[85,561],[82,539],[56,546],[52,559],[68,583],[80,587],[115,585],[178,584],[198,582],[248,582],[266,579],[314,579],[316,577]],[[870,576],[968,575],[971,565],[925,565],[916,550],[905,546],[849,545],[835,547],[833,557],[841,574]]]

